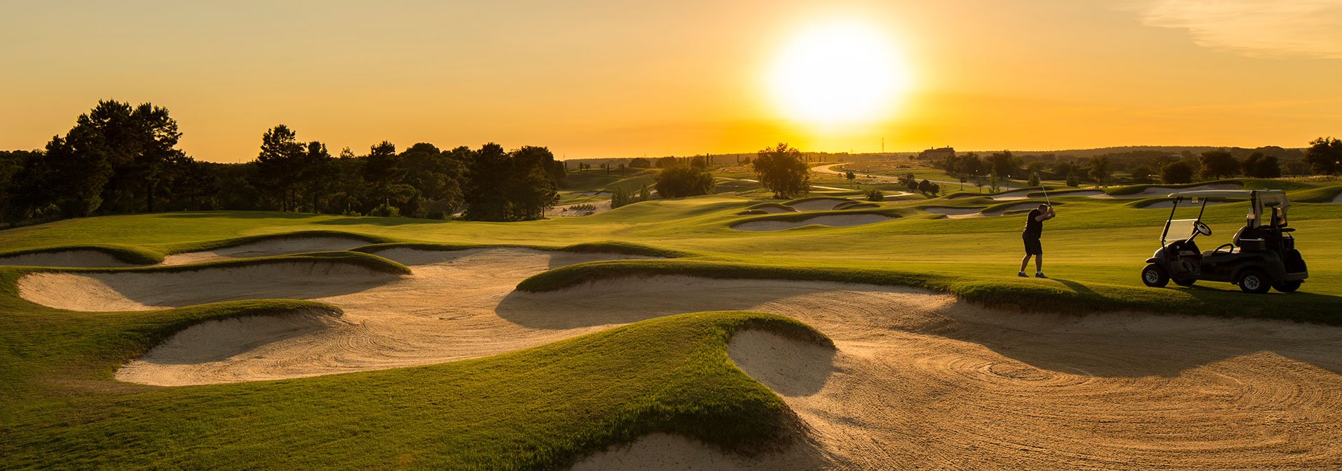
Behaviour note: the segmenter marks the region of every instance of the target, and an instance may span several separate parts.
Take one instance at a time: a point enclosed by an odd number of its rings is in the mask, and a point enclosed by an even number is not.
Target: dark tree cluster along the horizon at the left
[[[486,144],[442,150],[391,142],[331,156],[278,125],[244,164],[199,162],[177,149],[166,109],[99,102],[44,150],[0,152],[5,223],[93,215],[263,209],[472,220],[542,217],[566,169],[546,148]]]

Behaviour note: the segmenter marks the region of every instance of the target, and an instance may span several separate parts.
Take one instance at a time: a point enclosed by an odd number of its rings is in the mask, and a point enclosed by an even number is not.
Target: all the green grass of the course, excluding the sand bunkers
[[[356,235],[356,251],[274,260],[404,267],[380,250],[518,246],[660,256],[550,270],[521,290],[680,274],[906,284],[1020,310],[1266,317],[1342,323],[1342,204],[1335,181],[1244,181],[1286,187],[1298,247],[1311,278],[1295,294],[1241,294],[1228,283],[1147,289],[1138,279],[1158,248],[1168,209],[1146,200],[1059,195],[1045,223],[1045,271],[1016,278],[1023,216],[945,219],[926,205],[1021,204],[985,197],[884,201],[870,211],[741,216],[760,197],[713,195],[631,204],[586,217],[526,223],[435,221],[275,212],[181,212],[90,217],[0,231],[5,251],[105,247],[141,256],[217,248],[302,232]],[[1247,203],[1208,207],[1215,246],[1244,221]],[[896,219],[856,227],[747,232],[745,220],[875,212]],[[1186,209],[1180,217],[1190,217]],[[315,232],[314,232],[315,231]],[[1209,248],[1209,247],[1208,247]],[[138,255],[137,255],[138,254]],[[136,267],[109,270],[197,270]],[[111,380],[113,369],[191,323],[293,309],[299,301],[248,301],[161,311],[71,313],[17,298],[30,270],[0,267],[0,456],[4,467],[476,467],[570,463],[648,431],[696,436],[730,450],[765,447],[789,420],[785,407],[722,353],[742,325],[809,329],[761,314],[670,317],[505,356],[421,368],[212,386],[153,388]],[[789,330],[790,329],[790,330]],[[805,337],[805,335],[803,335]]]

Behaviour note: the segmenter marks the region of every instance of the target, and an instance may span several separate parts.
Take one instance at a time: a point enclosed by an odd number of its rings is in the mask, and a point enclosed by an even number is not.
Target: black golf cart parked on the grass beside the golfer
[[[1294,228],[1287,227],[1291,201],[1279,189],[1253,191],[1196,191],[1170,193],[1174,205],[1161,233],[1161,250],[1146,259],[1142,282],[1150,287],[1165,287],[1170,280],[1178,286],[1192,286],[1197,280],[1228,282],[1245,293],[1267,293],[1276,289],[1292,293],[1310,276],[1300,251],[1295,250]],[[1198,251],[1198,236],[1212,236],[1212,228],[1202,223],[1206,199],[1248,200],[1249,215],[1244,227],[1231,243],[1216,250]],[[1201,209],[1197,219],[1174,219],[1180,203],[1190,201]],[[1168,240],[1173,239],[1173,240]]]

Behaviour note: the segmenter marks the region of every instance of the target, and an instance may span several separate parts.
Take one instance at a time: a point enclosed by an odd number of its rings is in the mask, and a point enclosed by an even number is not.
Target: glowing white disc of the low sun
[[[774,59],[774,103],[809,125],[855,125],[888,115],[909,89],[909,70],[891,39],[858,21],[798,31]]]

